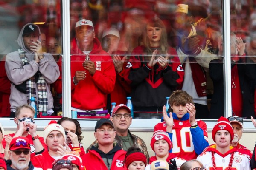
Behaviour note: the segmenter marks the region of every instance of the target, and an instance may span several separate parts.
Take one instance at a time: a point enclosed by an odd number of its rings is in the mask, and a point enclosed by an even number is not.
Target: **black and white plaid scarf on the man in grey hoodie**
[[[25,56],[25,53],[22,49],[18,50],[20,54],[20,59],[23,65],[28,65],[28,59]],[[48,110],[48,100],[47,100],[47,90],[46,90],[46,82],[40,71],[38,71],[38,81],[37,81],[37,88],[38,88],[38,101],[36,100],[36,90],[35,90],[35,76],[26,80],[26,97],[27,103],[30,105],[31,97],[35,97],[35,104],[37,105],[38,112],[46,112]]]

